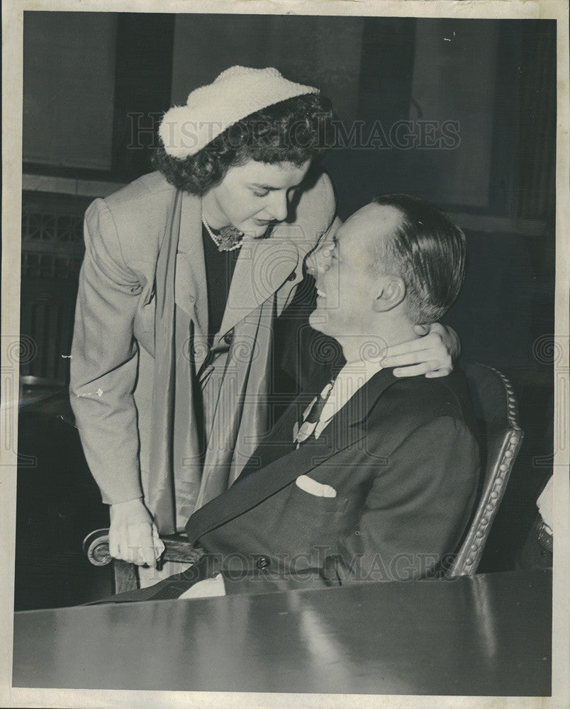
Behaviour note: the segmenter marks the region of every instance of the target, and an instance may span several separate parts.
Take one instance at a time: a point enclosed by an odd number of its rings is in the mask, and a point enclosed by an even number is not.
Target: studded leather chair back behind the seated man
[[[476,572],[524,435],[510,381],[485,364],[467,364],[464,373],[479,421],[484,477],[471,525],[447,576]]]

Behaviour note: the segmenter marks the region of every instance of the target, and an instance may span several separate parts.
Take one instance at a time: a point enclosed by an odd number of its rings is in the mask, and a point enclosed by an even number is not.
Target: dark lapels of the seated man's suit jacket
[[[313,378],[312,378],[313,379]],[[313,379],[314,381],[314,379]],[[277,491],[289,485],[298,476],[323,464],[327,459],[361,440],[367,435],[366,421],[371,408],[397,377],[392,369],[381,369],[337,412],[320,438],[279,457],[262,469],[247,475],[243,481],[230,487],[206,506],[197,510],[186,524],[186,534],[192,543],[239,515],[247,512]],[[274,435],[283,436],[291,426],[291,436],[296,411],[306,401],[306,394],[299,396],[276,425]],[[275,441],[270,435],[257,449],[254,457],[262,456],[263,449]]]

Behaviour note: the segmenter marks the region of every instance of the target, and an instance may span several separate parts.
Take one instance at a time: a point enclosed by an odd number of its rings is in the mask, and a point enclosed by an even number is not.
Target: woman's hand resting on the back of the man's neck
[[[382,367],[396,367],[394,376],[447,376],[461,350],[457,334],[440,323],[415,325],[414,330],[422,337],[388,347]]]

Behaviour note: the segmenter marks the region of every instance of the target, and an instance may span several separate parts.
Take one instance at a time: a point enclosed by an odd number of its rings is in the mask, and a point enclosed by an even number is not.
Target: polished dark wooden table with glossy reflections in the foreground
[[[13,686],[547,696],[552,573],[16,613]]]

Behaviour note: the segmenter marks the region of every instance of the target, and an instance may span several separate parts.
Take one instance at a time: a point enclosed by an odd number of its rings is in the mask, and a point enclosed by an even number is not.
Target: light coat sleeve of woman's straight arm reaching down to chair
[[[141,284],[125,264],[111,211],[91,204],[70,364],[70,398],[86,461],[104,503],[142,496],[133,390],[138,345],[133,323]]]

